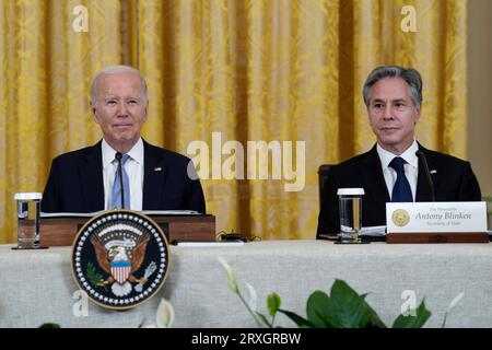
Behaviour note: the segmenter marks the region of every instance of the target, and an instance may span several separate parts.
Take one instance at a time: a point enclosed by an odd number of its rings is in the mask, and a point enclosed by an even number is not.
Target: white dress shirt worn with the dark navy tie
[[[407,163],[405,167],[405,176],[407,176],[410,189],[412,190],[412,198],[415,201],[417,194],[417,179],[419,177],[419,158],[415,152],[419,150],[419,143],[413,140],[413,143],[400,155],[393,154],[384,150],[379,143],[377,143],[377,154],[379,155],[380,164],[383,166],[383,175],[385,176],[386,187],[388,188],[389,198],[391,198],[393,187],[397,178],[397,172],[389,166],[389,163],[395,156],[401,156]]]

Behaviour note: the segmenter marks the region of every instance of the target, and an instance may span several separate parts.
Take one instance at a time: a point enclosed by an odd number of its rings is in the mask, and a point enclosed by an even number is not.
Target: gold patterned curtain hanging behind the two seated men
[[[73,28],[78,5],[87,32]],[[405,5],[417,32],[401,28]],[[54,156],[101,138],[90,83],[119,63],[148,80],[143,136],[157,145],[186,153],[202,140],[212,151],[212,132],[245,148],[305,141],[301,191],[271,173],[202,185],[218,231],[314,238],[318,166],[375,141],[361,95],[374,67],[420,70],[418,139],[466,155],[466,28],[461,0],[0,1],[0,242],[15,240],[13,194],[43,191]]]

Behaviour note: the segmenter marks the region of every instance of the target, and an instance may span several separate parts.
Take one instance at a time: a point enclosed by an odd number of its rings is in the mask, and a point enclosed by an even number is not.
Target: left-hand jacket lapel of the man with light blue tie
[[[79,166],[83,208],[87,212],[104,210],[103,155],[101,141],[89,148]]]

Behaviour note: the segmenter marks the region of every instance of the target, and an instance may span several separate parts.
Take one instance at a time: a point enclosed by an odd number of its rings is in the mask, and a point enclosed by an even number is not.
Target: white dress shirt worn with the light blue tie
[[[118,161],[116,151],[103,139],[101,143],[103,152],[103,179],[104,179],[104,209],[113,209],[113,186],[115,183]],[[133,148],[127,153],[129,159],[125,162],[125,171],[128,174],[130,191],[130,209],[141,211],[143,198],[143,141],[140,138]]]

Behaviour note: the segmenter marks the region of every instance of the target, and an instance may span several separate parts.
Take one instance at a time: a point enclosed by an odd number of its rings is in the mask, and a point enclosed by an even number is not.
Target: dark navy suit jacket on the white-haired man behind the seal
[[[142,210],[196,210],[206,213],[203,191],[190,179],[190,160],[143,141]],[[130,179],[131,182],[131,179]],[[101,141],[54,159],[42,200],[44,212],[104,210]]]

